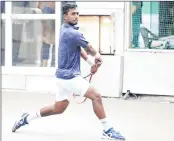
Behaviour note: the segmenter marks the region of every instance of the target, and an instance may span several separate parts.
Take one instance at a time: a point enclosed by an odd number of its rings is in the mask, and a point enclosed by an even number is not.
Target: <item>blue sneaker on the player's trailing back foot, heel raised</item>
[[[15,132],[21,126],[24,126],[24,125],[28,124],[28,122],[27,122],[28,115],[29,115],[28,113],[22,114],[21,119],[15,122],[15,124],[12,128],[12,132]]]

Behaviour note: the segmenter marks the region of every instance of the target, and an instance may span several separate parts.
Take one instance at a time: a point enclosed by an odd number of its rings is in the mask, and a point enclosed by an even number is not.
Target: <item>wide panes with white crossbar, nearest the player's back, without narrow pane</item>
[[[55,2],[13,1],[12,14],[12,65],[55,67]]]

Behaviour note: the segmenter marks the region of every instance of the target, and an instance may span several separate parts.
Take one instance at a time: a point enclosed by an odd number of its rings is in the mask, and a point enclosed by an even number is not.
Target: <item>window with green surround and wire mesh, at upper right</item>
[[[135,1],[131,12],[131,48],[174,49],[173,1]]]

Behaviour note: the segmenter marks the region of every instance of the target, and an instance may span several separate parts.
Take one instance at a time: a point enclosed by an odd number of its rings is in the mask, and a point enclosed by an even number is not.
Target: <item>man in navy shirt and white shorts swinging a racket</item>
[[[97,72],[102,59],[100,54],[95,51],[78,31],[78,27],[75,26],[79,18],[77,5],[72,3],[65,4],[63,14],[64,24],[60,29],[58,68],[56,70],[59,91],[56,95],[56,102],[54,105],[44,107],[34,114],[24,113],[21,119],[16,121],[12,131],[15,132],[21,126],[29,124],[34,119],[62,114],[69,104],[69,97],[75,93],[92,100],[94,113],[103,126],[104,138],[125,140],[108,123],[100,93],[87,80],[80,76],[80,56],[91,65],[92,73]],[[95,61],[90,61],[87,54],[92,55]]]

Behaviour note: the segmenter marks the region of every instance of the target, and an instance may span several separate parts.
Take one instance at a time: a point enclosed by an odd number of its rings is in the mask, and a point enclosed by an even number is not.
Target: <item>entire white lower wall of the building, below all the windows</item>
[[[103,66],[93,76],[92,84],[103,96],[119,97],[122,77],[120,57],[105,56],[103,59]],[[173,60],[174,53],[125,52],[123,92],[130,90],[138,94],[174,95]],[[87,68],[86,72],[84,68]],[[83,76],[89,73],[88,68],[87,64],[83,64]],[[34,72],[28,68],[30,73],[22,71],[22,68],[13,69],[2,70],[3,89],[56,92],[55,69],[44,71],[40,68]]]

